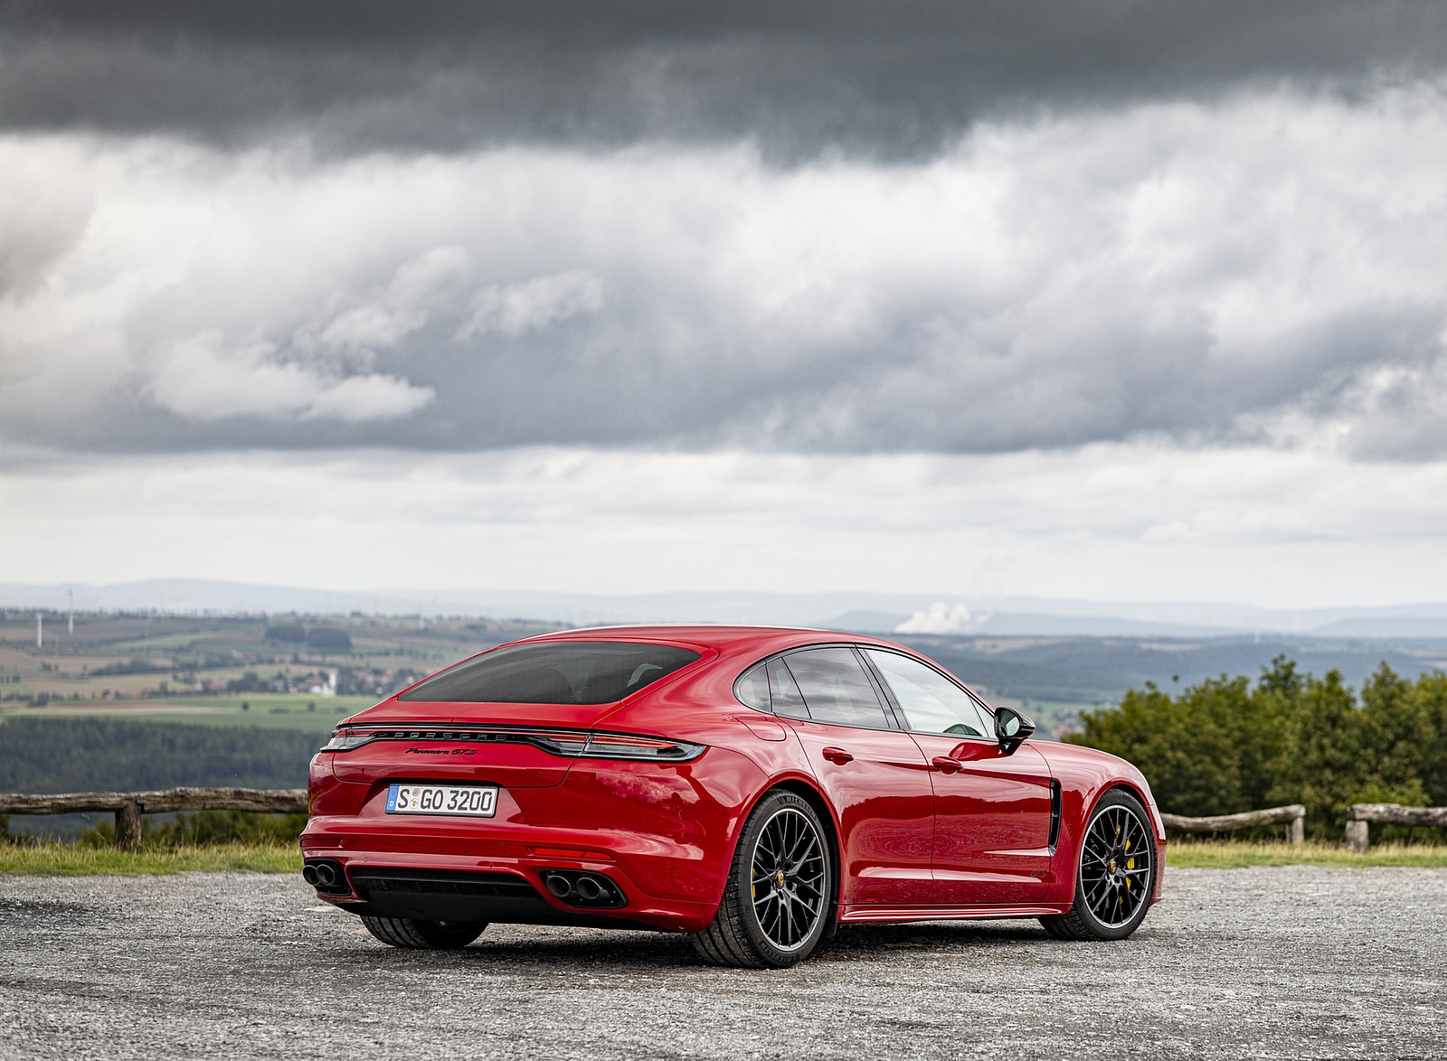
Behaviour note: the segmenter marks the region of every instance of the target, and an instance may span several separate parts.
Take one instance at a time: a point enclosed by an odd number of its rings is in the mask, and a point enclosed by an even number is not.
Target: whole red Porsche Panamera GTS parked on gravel
[[[492,921],[692,932],[754,967],[861,921],[1121,940],[1159,898],[1150,789],[1032,733],[886,640],[550,633],[340,723],[311,763],[302,873],[396,947]]]

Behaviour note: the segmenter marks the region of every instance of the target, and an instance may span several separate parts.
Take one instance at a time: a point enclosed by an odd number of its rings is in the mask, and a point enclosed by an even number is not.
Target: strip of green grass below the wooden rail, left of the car
[[[0,876],[158,876],[192,870],[301,873],[295,844],[207,844],[203,847],[113,847],[46,841],[35,847],[0,844]]]

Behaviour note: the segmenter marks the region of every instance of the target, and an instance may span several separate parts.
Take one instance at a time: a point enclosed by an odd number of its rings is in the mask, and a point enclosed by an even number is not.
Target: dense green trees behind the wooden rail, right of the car
[[[1308,833],[1340,838],[1359,802],[1447,805],[1447,674],[1382,663],[1357,694],[1278,656],[1255,682],[1221,675],[1172,695],[1147,682],[1082,711],[1065,740],[1129,759],[1163,811],[1307,807]]]

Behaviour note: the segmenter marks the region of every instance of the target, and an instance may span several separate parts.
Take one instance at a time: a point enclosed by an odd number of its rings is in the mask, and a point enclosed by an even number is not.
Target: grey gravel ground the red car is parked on
[[[300,879],[0,877],[0,1058],[1447,1057],[1447,870],[1171,870],[1117,944],[845,929],[786,971],[650,932],[399,951]]]

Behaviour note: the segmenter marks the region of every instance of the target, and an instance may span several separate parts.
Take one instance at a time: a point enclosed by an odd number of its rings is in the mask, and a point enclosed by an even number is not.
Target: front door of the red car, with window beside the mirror
[[[939,671],[865,649],[926,762],[935,794],[933,903],[1037,901],[1051,869],[1051,768],[1004,755],[988,708]]]

